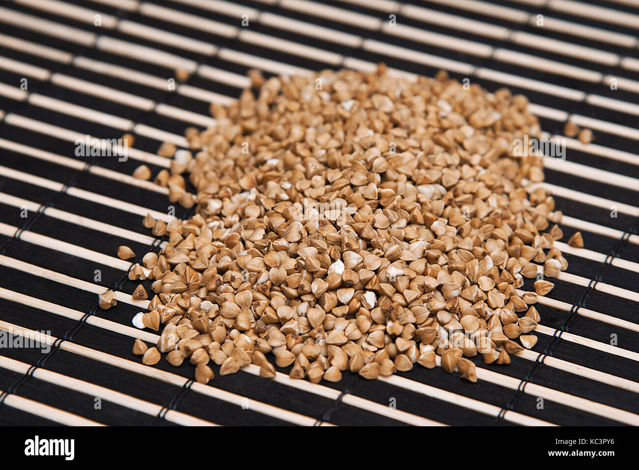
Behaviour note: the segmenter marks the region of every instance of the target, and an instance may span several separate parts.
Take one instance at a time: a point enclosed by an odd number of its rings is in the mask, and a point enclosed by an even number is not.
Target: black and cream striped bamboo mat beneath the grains
[[[3,1],[0,424],[639,425],[638,35],[630,0]],[[141,220],[168,220],[169,202],[132,171],[167,167],[158,146],[185,147],[184,129],[209,125],[209,103],[235,99],[250,68],[380,61],[507,86],[548,137],[566,139],[543,186],[564,213],[569,268],[537,304],[537,345],[508,367],[477,361],[476,384],[439,367],[312,384],[249,366],[213,367],[203,385],[188,364],[142,365],[133,340],[157,335],[132,325],[143,304],[115,254],[157,248]],[[178,68],[191,77],[169,91]],[[562,136],[567,121],[594,142]],[[75,156],[76,139],[125,132],[126,162]],[[576,231],[584,249],[566,245]],[[110,310],[97,306],[105,288],[118,292]]]

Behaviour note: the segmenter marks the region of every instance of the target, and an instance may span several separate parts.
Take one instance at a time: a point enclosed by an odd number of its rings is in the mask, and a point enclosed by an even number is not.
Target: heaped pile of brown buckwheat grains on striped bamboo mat
[[[560,217],[553,199],[527,192],[543,181],[541,157],[512,155],[514,139],[541,132],[524,96],[445,73],[413,82],[383,64],[250,76],[238,102],[212,105],[215,128],[187,130],[192,152],[160,149],[174,160],[156,183],[196,215],[144,219],[169,243],[142,260],[157,295],[134,324],[162,328],[157,347],[135,342],[143,363],[167,353],[207,383],[210,361],[220,375],[253,363],[274,377],[273,354],[318,383],[440,356],[474,382],[468,358],[507,364],[534,347],[537,295],[567,262],[560,229],[542,233]],[[138,264],[129,276],[145,277]],[[517,291],[524,277],[535,292]]]

